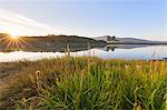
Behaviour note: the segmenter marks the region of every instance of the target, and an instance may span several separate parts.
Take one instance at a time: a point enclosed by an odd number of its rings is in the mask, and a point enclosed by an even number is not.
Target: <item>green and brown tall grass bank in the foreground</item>
[[[167,62],[70,58],[0,63],[1,108],[167,110]]]

